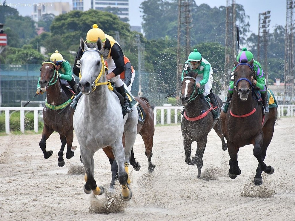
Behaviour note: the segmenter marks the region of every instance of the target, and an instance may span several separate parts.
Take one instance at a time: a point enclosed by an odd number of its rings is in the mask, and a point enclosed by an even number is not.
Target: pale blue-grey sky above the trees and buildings
[[[4,0],[0,0],[3,3]],[[141,26],[142,23],[142,13],[140,4],[144,0],[129,0],[130,7],[130,25],[132,26]],[[211,8],[219,7],[221,5],[226,5],[226,0],[195,0],[197,5],[206,3]],[[7,3],[40,3],[40,2],[54,2],[54,0],[6,0]],[[72,4],[72,0],[59,0],[55,2],[70,2]],[[242,4],[245,9],[246,15],[250,16],[250,30],[255,34],[258,34],[258,16],[259,13],[264,11],[271,11],[271,23],[270,23],[270,32],[272,32],[273,28],[276,24],[285,26],[286,24],[286,0],[235,0],[236,4]],[[28,6],[17,6],[16,8],[22,16],[31,15],[33,11],[33,7]],[[203,21],[206,22],[206,18],[203,18]]]

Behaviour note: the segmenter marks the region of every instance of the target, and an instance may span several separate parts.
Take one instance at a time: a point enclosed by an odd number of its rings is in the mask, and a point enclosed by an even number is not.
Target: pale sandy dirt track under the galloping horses
[[[134,151],[141,169],[129,169],[133,197],[129,202],[112,198],[114,205],[106,210],[109,214],[96,213],[100,203],[109,199],[108,194],[94,198],[83,191],[79,147],[60,168],[57,133],[47,140],[47,150],[53,150],[49,159],[43,158],[39,148],[41,134],[2,136],[0,220],[295,220],[294,134],[295,118],[278,120],[265,159],[275,172],[263,173],[263,184],[255,187],[258,162],[253,146],[240,149],[242,174],[232,180],[228,177],[230,158],[212,130],[201,179],[197,179],[196,166],[184,161],[181,126],[156,127],[152,157],[155,171],[148,172],[144,144],[138,135]],[[79,146],[76,136],[73,145]],[[195,152],[193,143],[192,155]],[[96,182],[108,189],[109,161],[102,150],[94,156]],[[119,196],[119,189],[115,194]],[[122,212],[114,212],[119,209]]]

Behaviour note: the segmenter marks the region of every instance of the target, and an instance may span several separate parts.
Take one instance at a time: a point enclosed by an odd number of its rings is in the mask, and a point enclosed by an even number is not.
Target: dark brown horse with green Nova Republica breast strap
[[[65,144],[67,144],[65,154],[67,159],[71,159],[75,151],[75,147],[72,149],[74,110],[68,105],[71,103],[73,94],[64,85],[61,85],[58,72],[55,70],[55,62],[42,63],[40,71],[40,86],[41,90],[46,91],[46,100],[43,109],[44,126],[39,146],[43,151],[44,158],[48,159],[53,151],[46,151],[46,140],[53,131],[58,132],[61,141],[60,151],[58,152],[58,166],[64,166],[63,151]],[[60,113],[62,110],[63,113]]]

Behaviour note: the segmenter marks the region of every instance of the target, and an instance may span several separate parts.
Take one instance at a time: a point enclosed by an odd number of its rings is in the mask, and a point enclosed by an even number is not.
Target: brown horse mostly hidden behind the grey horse
[[[145,144],[145,155],[148,157],[148,171],[153,172],[155,165],[152,164],[152,156],[153,156],[153,137],[155,133],[155,125],[154,125],[154,112],[153,106],[150,105],[147,98],[144,97],[135,97],[135,100],[142,107],[145,112],[145,123],[143,125],[137,124],[137,133],[139,133],[142,137],[142,140]],[[124,145],[124,136],[123,136],[123,145]],[[109,158],[111,164],[112,171],[112,181],[110,184],[110,189],[114,189],[115,180],[117,179],[118,166],[116,161],[114,160],[114,154],[112,152],[111,147],[103,148],[106,156]],[[140,170],[139,162],[135,161],[133,148],[131,151],[130,164],[133,168],[138,171]]]

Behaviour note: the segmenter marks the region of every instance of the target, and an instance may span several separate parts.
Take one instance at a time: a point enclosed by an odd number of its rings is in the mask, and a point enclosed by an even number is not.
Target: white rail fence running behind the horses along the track
[[[179,116],[179,106],[158,106],[154,109],[155,125],[180,123],[182,116]],[[30,111],[34,112],[34,131],[38,132],[38,119],[42,117],[43,107],[0,107],[0,113],[5,113],[5,132],[10,131],[10,116],[15,111],[20,111],[20,131],[24,133],[25,116]],[[278,117],[295,117],[295,105],[278,105]]]

